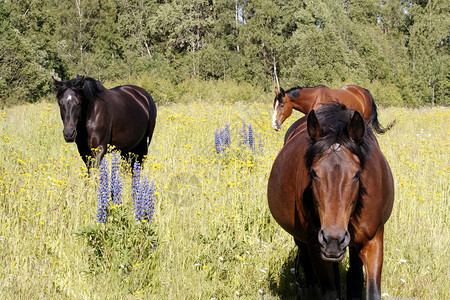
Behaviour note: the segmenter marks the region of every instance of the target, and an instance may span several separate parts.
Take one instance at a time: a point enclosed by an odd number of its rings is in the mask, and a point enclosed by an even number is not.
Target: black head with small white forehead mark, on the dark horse
[[[57,81],[53,77],[52,79],[64,124],[64,139],[66,142],[74,142],[77,137],[78,122],[82,117],[82,90],[85,78],[84,76],[77,76],[75,79],[68,81]]]

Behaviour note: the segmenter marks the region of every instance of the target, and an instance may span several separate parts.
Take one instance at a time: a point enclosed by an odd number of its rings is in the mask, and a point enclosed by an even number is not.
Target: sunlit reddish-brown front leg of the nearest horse
[[[381,226],[375,237],[367,242],[359,252],[366,269],[366,298],[381,299],[381,269],[383,267],[383,233]]]

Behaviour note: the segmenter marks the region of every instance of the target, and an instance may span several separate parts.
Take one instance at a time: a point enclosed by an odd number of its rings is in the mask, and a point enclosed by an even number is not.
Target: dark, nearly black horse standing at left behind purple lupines
[[[86,166],[98,166],[108,145],[132,162],[148,153],[156,122],[156,105],[143,88],[133,85],[105,88],[99,81],[77,76],[53,79],[66,142],[75,142]]]

